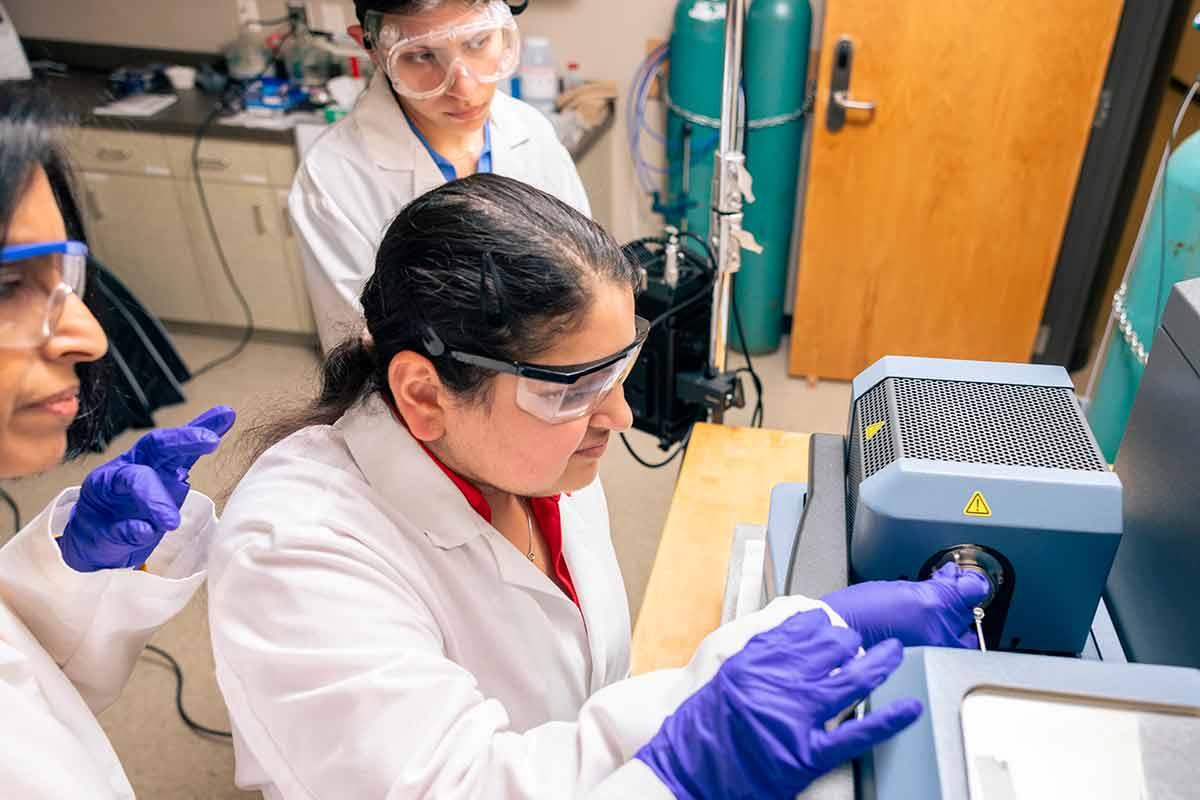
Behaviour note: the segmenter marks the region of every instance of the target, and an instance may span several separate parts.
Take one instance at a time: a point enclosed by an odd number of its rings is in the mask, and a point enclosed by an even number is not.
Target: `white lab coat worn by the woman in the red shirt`
[[[712,634],[689,667],[628,678],[599,481],[560,512],[580,607],[378,397],[268,451],[210,553],[238,786],[271,800],[670,798],[629,763],[636,750],[750,636],[823,606],[773,603]]]

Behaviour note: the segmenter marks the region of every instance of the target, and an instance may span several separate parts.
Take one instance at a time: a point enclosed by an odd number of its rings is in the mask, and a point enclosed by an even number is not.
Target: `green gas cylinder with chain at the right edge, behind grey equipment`
[[[1162,180],[1163,191],[1156,196],[1138,260],[1126,281],[1122,300],[1128,324],[1124,330],[1112,325],[1087,408],[1087,421],[1109,463],[1116,462],[1145,372],[1134,343],[1150,350],[1171,288],[1200,277],[1200,133],[1176,148]]]

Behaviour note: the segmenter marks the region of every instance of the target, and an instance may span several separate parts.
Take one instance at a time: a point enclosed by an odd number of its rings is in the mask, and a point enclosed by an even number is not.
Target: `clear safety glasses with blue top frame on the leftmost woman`
[[[77,241],[12,245],[0,251],[0,348],[44,344],[71,295],[83,297],[88,246]]]

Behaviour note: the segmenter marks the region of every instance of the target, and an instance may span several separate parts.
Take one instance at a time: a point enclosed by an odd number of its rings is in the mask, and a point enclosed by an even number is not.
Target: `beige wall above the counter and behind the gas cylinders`
[[[334,0],[353,18],[352,0]],[[216,52],[238,31],[236,0],[4,0],[24,36],[102,44]],[[824,0],[814,1],[815,31]],[[258,0],[264,17],[283,14],[284,0]],[[580,164],[596,218],[619,241],[659,224],[634,178],[625,144],[623,101],[650,40],[671,35],[676,0],[532,0],[521,17],[527,34],[550,36],[560,64],[578,61],[584,77],[616,80],[613,130]],[[654,109],[661,115],[661,108]],[[648,158],[654,154],[647,149]]]

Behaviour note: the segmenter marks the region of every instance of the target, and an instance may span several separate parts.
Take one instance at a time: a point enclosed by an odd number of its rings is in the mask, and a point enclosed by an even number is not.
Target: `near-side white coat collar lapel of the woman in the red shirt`
[[[342,432],[371,488],[403,509],[436,547],[461,547],[494,530],[396,421],[379,395],[347,411],[334,427]]]

